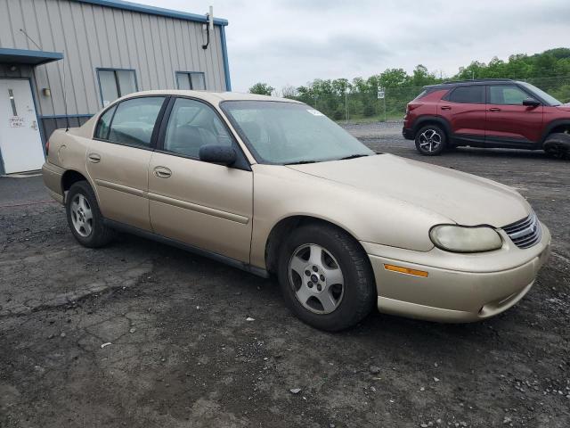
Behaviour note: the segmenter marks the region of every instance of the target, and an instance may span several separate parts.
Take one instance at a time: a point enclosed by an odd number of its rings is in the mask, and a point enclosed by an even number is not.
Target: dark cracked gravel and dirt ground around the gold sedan
[[[419,159],[398,124],[350,131]],[[0,178],[0,426],[570,426],[570,163],[421,160],[517,187],[550,226],[549,263],[500,317],[322,333],[271,280],[129,235],[82,248],[40,177]]]

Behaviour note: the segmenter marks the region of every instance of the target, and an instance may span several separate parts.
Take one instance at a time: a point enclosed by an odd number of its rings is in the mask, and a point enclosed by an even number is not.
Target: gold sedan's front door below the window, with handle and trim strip
[[[249,262],[251,171],[154,152],[149,172],[156,234]]]

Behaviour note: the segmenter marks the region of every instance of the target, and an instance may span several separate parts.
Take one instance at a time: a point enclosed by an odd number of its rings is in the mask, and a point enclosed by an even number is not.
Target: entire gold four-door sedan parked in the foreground
[[[261,95],[128,95],[50,137],[45,185],[87,247],[122,230],[276,276],[305,323],[381,312],[493,317],[532,287],[550,232],[516,191],[376,154]]]

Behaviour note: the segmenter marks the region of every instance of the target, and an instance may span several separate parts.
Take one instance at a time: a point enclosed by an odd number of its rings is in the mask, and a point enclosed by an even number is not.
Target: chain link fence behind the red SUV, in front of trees
[[[570,76],[557,78],[521,78],[557,98],[570,102]],[[421,93],[423,86],[387,87],[384,98],[378,93],[299,96],[297,99],[338,122],[374,122],[402,120],[406,104]]]

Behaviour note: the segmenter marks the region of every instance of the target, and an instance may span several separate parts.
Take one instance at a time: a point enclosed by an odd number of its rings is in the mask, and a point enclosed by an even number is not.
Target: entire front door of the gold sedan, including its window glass
[[[206,144],[240,150],[208,104],[176,98],[169,109],[149,166],[153,231],[248,263],[253,173],[199,161]]]

